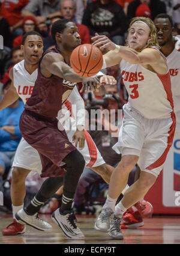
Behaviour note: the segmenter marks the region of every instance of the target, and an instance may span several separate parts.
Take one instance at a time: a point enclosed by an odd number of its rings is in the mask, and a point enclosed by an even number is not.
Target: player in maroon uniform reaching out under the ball
[[[37,212],[41,205],[52,197],[59,188],[61,177],[65,173],[62,206],[60,210],[58,209],[53,213],[53,219],[61,226],[65,236],[71,239],[83,239],[82,232],[76,226],[76,217],[71,210],[71,204],[85,160],[82,154],[68,140],[67,133],[64,130],[61,132],[58,130],[56,116],[58,115],[58,110],[62,108],[62,103],[65,105],[68,103],[67,98],[71,96],[76,82],[82,82],[85,87],[89,84],[91,87],[92,85],[95,86],[99,81],[97,78],[82,78],[76,75],[66,64],[70,62],[70,55],[73,49],[80,44],[77,27],[73,22],[65,19],[58,20],[52,26],[52,36],[56,41],[56,48],[47,51],[40,59],[34,91],[26,103],[26,110],[20,121],[22,135],[29,144],[33,144],[33,147],[40,154],[43,165],[41,177],[50,178],[44,181],[40,192],[38,192],[29,206],[16,213],[16,219],[39,230],[49,230],[50,225],[39,219]],[[114,82],[115,79],[112,79],[112,81]],[[59,99],[60,102],[58,102]],[[76,100],[76,105],[77,103]],[[26,118],[28,118],[28,123],[31,127],[28,127]],[[75,145],[79,143],[80,149],[84,148],[85,136],[86,133],[83,130],[82,123],[77,124],[73,142]],[[97,154],[91,139],[90,142],[93,153]],[[100,153],[98,154],[100,156]],[[105,165],[104,160],[99,156],[98,161],[93,157],[94,159],[91,159],[91,165],[89,163],[89,166],[97,164],[99,165],[97,170],[99,172],[104,171],[106,174],[112,171],[113,168]],[[59,167],[61,162],[66,163],[66,172]],[[94,169],[96,169],[95,167]]]

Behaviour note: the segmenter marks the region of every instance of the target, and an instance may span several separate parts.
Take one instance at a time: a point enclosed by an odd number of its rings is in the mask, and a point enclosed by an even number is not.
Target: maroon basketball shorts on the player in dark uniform
[[[40,154],[41,177],[64,176],[65,169],[60,167],[61,162],[76,147],[68,140],[65,130],[58,130],[58,120],[47,121],[25,110],[20,117],[19,127],[23,138]]]

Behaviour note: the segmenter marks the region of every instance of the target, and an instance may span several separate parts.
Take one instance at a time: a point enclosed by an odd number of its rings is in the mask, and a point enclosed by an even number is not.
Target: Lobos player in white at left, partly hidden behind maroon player
[[[34,87],[35,80],[37,79],[37,67],[38,60],[40,59],[43,52],[43,43],[41,35],[37,32],[29,32],[25,34],[22,41],[22,50],[24,52],[25,60],[19,62],[14,69],[11,69],[11,88],[7,93],[7,96],[0,102],[0,109],[5,108],[10,105],[19,97],[26,103],[26,100],[31,96],[32,89]],[[114,79],[110,76],[104,76],[108,79],[107,82],[112,82]],[[103,78],[102,78],[103,79]],[[68,97],[68,100],[64,103],[62,108],[68,109],[71,104],[79,106],[80,109],[84,108],[84,103],[80,97],[77,88],[75,87]],[[71,117],[70,117],[71,118]],[[76,121],[72,121],[73,126],[76,125]],[[73,127],[74,128],[74,127]],[[73,141],[74,130],[67,131],[68,139]],[[92,167],[94,171],[97,171],[104,180],[109,183],[110,175],[112,173],[112,167],[104,163],[99,151],[95,147],[91,136],[85,132],[85,147],[81,150],[83,157],[85,158],[86,165]],[[90,148],[90,150],[88,150]],[[94,150],[95,154],[92,154]],[[31,156],[31,157],[29,157]],[[31,171],[32,170],[32,171]],[[11,200],[13,203],[13,218],[16,212],[23,208],[23,200],[25,197],[25,178],[31,171],[41,172],[41,161],[38,151],[32,148],[25,139],[22,138],[19,147],[16,151],[16,156],[13,162],[13,178],[11,183]],[[19,222],[14,221],[8,225],[2,231],[3,235],[14,236],[17,234],[25,233],[25,225],[19,224]]]

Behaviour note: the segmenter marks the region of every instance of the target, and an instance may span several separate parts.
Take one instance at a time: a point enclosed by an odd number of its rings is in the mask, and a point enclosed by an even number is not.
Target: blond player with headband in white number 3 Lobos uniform
[[[122,160],[113,171],[109,195],[95,222],[97,230],[110,228],[110,237],[123,239],[120,228],[123,213],[143,198],[155,183],[172,145],[176,118],[170,74],[166,58],[158,50],[154,23],[149,18],[136,17],[131,21],[127,46],[116,46],[101,35],[92,40],[101,50],[109,50],[104,55],[105,67],[120,63],[129,94],[119,139],[114,146],[122,153]],[[141,169],[139,180],[126,190],[124,198],[115,207],[136,163]]]

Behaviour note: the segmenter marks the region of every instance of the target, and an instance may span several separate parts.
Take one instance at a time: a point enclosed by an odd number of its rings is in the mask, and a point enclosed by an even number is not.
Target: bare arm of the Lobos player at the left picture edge
[[[14,82],[13,82],[13,68],[10,69],[9,75],[11,79],[11,87],[7,91],[7,94],[5,94],[3,99],[0,101],[0,110],[7,108],[8,106],[16,102],[17,99],[19,99],[19,95],[17,94],[16,88],[14,87]]]

